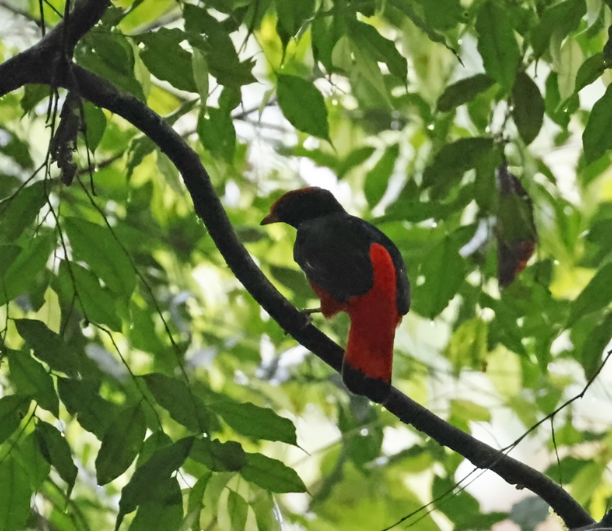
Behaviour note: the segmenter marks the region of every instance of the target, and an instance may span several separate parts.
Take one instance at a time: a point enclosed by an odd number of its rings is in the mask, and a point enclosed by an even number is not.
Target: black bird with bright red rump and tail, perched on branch
[[[384,402],[389,395],[395,329],[410,308],[410,283],[395,244],[351,216],[328,190],[289,191],[261,225],[297,229],[293,258],[321,300],[321,313],[348,313],[351,327],[342,379],[353,393]]]

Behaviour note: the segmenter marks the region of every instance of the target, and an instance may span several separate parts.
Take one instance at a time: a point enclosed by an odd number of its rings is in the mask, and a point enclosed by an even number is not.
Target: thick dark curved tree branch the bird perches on
[[[108,3],[108,0],[78,2],[70,15],[70,28],[67,29],[69,51],[102,16]],[[76,65],[53,67],[53,59],[62,53],[61,32],[62,23],[39,44],[0,65],[0,96],[25,83],[55,84],[78,91],[94,105],[118,114],[149,136],[181,173],[192,196],[196,214],[206,225],[238,280],[283,330],[340,371],[341,347],[310,324],[304,314],[296,310],[259,270],[237,239],[200,157],[184,139],[144,103],[131,95],[122,94],[103,78]],[[594,522],[584,508],[550,478],[455,428],[396,388],[392,389],[385,407],[404,423],[465,456],[476,467],[493,470],[508,483],[517,485],[517,488],[528,488],[548,502],[568,527]]]

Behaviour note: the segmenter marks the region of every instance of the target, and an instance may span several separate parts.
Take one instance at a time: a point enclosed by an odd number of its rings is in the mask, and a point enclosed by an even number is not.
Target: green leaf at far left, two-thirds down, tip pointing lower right
[[[58,395],[53,378],[45,368],[29,355],[29,352],[9,350],[10,381],[22,395],[31,395],[40,407],[59,417]]]

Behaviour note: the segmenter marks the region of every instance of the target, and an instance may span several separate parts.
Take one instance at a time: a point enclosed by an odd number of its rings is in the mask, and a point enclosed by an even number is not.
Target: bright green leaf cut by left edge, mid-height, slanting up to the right
[[[51,234],[37,236],[21,248],[21,252],[4,270],[0,270],[0,305],[23,294],[47,265],[55,238]]]

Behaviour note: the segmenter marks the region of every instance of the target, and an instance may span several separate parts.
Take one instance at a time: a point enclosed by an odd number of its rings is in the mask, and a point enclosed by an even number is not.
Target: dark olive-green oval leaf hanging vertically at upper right
[[[542,128],[544,100],[540,89],[524,72],[517,75],[512,87],[512,118],[525,144],[531,144]]]

